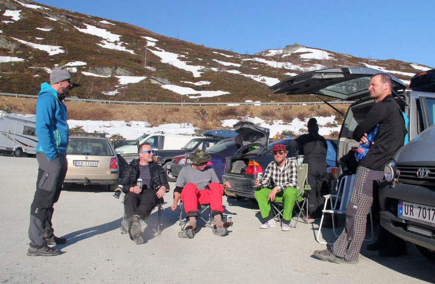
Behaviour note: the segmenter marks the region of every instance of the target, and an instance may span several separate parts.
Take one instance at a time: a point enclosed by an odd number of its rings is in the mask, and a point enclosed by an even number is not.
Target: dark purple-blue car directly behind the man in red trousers
[[[225,167],[225,157],[233,155],[236,151],[237,146],[233,138],[223,139],[207,150],[207,153],[212,157],[212,160],[207,163],[207,166],[212,167],[215,170],[219,180]],[[192,153],[186,153],[185,155],[175,156],[172,162],[168,164],[167,170],[170,171],[170,175],[174,177],[170,178],[170,181],[175,181],[180,170],[184,166],[192,163],[189,159],[191,154]]]

